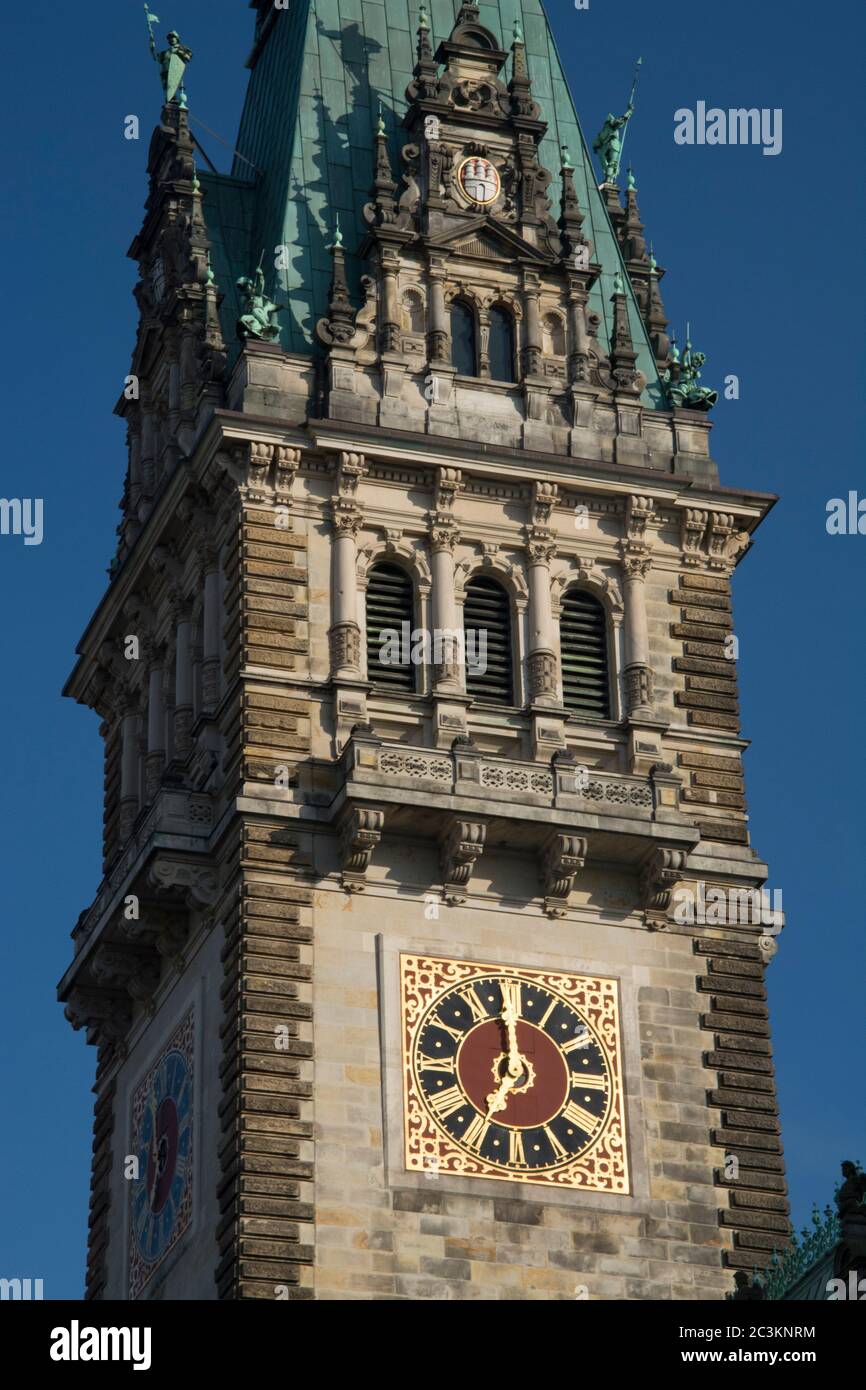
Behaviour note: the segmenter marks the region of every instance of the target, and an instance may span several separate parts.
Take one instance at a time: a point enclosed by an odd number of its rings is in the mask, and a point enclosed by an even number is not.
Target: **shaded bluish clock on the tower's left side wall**
[[[132,1184],[132,1297],[147,1283],[189,1225],[192,1081],[190,1016],[138,1087],[133,1099],[133,1154],[139,1176]]]

